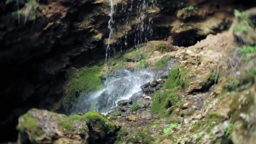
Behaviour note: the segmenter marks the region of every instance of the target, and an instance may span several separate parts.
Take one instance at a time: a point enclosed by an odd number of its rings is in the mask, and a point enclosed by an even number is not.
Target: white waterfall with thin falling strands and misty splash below
[[[135,1],[130,1],[131,6],[128,8],[127,18],[124,19],[126,21],[126,27],[129,24],[129,16],[133,12],[133,9],[136,9],[138,12],[137,19],[141,22],[136,25],[133,29],[135,32],[134,43],[135,47],[141,43],[145,43],[149,40],[149,37],[152,36],[152,19],[148,18],[146,22],[146,13],[147,9],[151,8],[156,0],[138,0],[136,4],[136,8],[133,8],[133,4]],[[113,35],[115,32],[115,3],[114,0],[109,0],[110,4],[110,12],[109,12],[109,37],[108,44],[106,48],[106,59],[105,59],[105,67],[108,69],[109,61],[111,59],[110,54],[112,54],[115,49],[112,48],[111,45]],[[124,45],[127,45],[127,35],[128,32],[125,32],[125,41],[123,41]],[[120,43],[120,42],[119,42]],[[122,50],[122,48],[120,48]],[[95,93],[82,95],[78,104],[75,104],[72,108],[73,113],[77,112],[87,112],[89,110],[95,110],[104,114],[107,114],[109,109],[117,107],[117,102],[124,99],[129,99],[133,96],[134,93],[138,93],[141,91],[141,86],[145,83],[148,83],[150,79],[158,79],[160,77],[165,77],[168,75],[168,72],[171,69],[167,67],[158,71],[150,71],[149,69],[136,70],[131,68],[119,69],[114,72],[106,72],[105,77],[107,80],[105,81],[104,88],[100,91],[96,91]],[[107,73],[109,73],[107,75]]]

